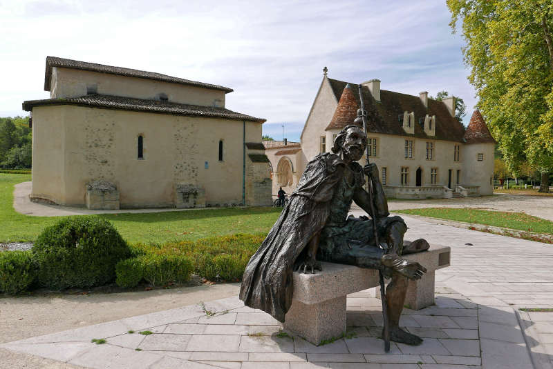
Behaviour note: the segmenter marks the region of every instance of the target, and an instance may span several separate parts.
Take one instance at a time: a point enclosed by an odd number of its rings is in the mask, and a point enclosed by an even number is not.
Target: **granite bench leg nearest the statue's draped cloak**
[[[292,300],[284,328],[314,345],[346,332],[346,296],[307,305]]]

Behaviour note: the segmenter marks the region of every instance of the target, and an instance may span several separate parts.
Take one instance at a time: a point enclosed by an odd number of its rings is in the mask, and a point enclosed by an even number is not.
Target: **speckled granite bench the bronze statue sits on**
[[[405,256],[428,270],[420,280],[409,281],[405,306],[419,310],[434,304],[435,270],[449,266],[449,256],[450,248],[440,245]],[[346,332],[346,295],[379,287],[377,270],[335,263],[321,265],[322,272],[314,275],[294,272],[292,306],[283,325],[314,344]]]

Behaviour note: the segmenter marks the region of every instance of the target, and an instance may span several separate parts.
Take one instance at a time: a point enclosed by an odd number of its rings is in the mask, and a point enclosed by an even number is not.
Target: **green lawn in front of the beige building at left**
[[[16,212],[12,206],[13,186],[25,181],[30,181],[30,174],[0,173],[0,242],[34,241],[44,227],[62,218],[30,217]],[[129,243],[165,243],[234,233],[268,232],[280,211],[279,208],[222,208],[86,217],[111,221]]]

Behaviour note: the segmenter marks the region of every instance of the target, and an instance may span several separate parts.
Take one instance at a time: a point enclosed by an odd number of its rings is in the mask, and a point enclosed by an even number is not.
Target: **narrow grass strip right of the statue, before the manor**
[[[394,212],[553,235],[553,221],[532,217],[532,215],[521,212],[496,212],[470,208],[404,209],[394,210]]]

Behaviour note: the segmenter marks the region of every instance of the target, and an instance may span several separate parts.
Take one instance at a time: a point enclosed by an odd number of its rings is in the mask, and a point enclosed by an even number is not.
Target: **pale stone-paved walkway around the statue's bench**
[[[367,290],[348,296],[357,337],[319,347],[278,335],[270,315],[232,297],[0,348],[85,368],[553,368],[553,312],[518,310],[553,307],[552,246],[404,218],[408,239],[451,246],[452,266],[436,272],[436,306],[402,317],[421,346],[384,353],[380,302]]]

